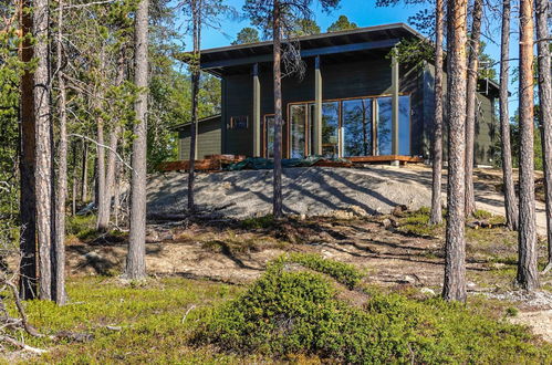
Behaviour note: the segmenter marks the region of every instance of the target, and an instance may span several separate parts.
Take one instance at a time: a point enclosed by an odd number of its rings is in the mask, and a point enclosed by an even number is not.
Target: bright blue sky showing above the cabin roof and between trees
[[[227,4],[233,7],[237,11],[241,12],[244,0],[228,0]],[[341,0],[337,9],[331,13],[324,13],[316,0],[313,0],[312,10],[317,24],[322,31],[333,23],[339,15],[345,14],[350,21],[354,21],[358,27],[371,27],[386,23],[404,22],[408,23],[408,17],[415,14],[418,10],[426,8],[426,6],[405,6],[399,3],[396,7],[378,8],[375,0]],[[517,27],[514,19],[515,14],[512,13],[512,28]],[[249,20],[223,19],[221,20],[221,29],[204,29],[201,48],[217,48],[229,45],[235,39],[236,34],[243,28],[249,27]],[[490,54],[492,59],[498,61],[500,59],[500,19],[491,17],[487,13],[486,21],[483,22],[483,32],[487,36],[483,41],[487,43],[486,53]],[[190,44],[189,36],[185,36],[184,42]],[[515,32],[512,34],[510,58],[515,59],[518,53]],[[189,46],[186,46],[187,49]],[[517,67],[517,62],[511,62],[511,70]],[[498,74],[498,66],[496,67]],[[510,113],[517,108],[517,94],[514,87],[510,85],[512,97],[510,100]]]

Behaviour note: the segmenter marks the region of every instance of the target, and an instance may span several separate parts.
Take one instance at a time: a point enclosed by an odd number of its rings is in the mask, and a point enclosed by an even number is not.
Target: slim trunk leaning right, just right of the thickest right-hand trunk
[[[476,137],[477,115],[477,74],[479,66],[479,39],[481,38],[481,18],[483,13],[482,0],[475,0],[468,65],[468,85],[466,97],[466,217],[476,211],[476,196],[473,192],[473,150]]]

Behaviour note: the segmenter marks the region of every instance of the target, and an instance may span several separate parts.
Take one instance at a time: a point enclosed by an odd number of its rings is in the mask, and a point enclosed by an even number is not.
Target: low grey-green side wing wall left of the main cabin
[[[221,152],[220,118],[198,123],[197,159],[207,155],[218,155]],[[190,127],[184,126],[178,132],[178,159],[189,159],[190,156]]]

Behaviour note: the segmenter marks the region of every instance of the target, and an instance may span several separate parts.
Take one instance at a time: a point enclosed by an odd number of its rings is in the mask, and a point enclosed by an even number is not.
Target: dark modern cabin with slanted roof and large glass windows
[[[399,63],[392,50],[403,40],[424,36],[396,23],[299,38],[304,72],[282,80],[283,157],[429,159],[435,66]],[[272,43],[202,50],[200,63],[220,77],[222,95],[221,114],[198,124],[198,158],[273,157]],[[493,164],[498,95],[494,82],[479,80],[475,161],[480,166]],[[186,159],[189,123],[177,131],[179,157]]]

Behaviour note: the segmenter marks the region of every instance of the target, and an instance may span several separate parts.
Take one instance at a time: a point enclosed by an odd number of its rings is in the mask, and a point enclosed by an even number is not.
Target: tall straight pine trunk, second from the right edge
[[[520,227],[518,283],[539,288],[533,160],[533,0],[520,1]],[[550,72],[550,70],[549,70]]]

